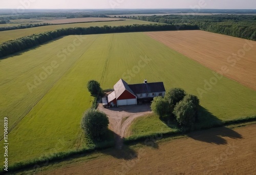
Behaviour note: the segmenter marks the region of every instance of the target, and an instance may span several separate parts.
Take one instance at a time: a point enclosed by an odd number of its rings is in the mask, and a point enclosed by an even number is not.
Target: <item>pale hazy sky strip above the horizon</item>
[[[1,9],[256,9],[256,0],[0,0]]]

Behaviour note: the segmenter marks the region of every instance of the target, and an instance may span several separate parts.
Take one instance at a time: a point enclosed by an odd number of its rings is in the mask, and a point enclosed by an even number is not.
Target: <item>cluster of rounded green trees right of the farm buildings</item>
[[[170,89],[163,97],[155,97],[152,111],[164,121],[177,121],[179,126],[193,129],[198,121],[200,101],[197,96],[186,94],[180,88]]]

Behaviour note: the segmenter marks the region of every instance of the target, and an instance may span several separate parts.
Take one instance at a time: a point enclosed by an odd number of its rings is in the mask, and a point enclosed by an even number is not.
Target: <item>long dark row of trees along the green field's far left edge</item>
[[[198,29],[197,26],[181,25],[179,30],[193,30]],[[0,57],[7,56],[31,47],[40,45],[46,41],[67,35],[86,35],[86,34],[100,34],[100,33],[115,33],[115,32],[137,32],[137,31],[164,31],[164,30],[177,30],[175,25],[127,25],[127,26],[103,26],[103,27],[89,27],[89,28],[66,28],[57,29],[49,32],[42,32],[17,38],[0,45]]]

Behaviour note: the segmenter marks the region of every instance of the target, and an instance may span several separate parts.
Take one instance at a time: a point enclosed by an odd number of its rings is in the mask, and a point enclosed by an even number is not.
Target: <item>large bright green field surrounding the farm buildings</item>
[[[0,61],[0,75],[4,75],[1,82],[5,82],[0,86],[1,104],[12,99],[1,106],[7,106],[4,114],[1,110],[1,116],[9,116],[11,122],[20,113],[25,114],[9,134],[12,163],[82,145],[80,119],[92,100],[86,89],[88,80],[95,79],[103,89],[109,89],[120,78],[128,83],[141,83],[147,78],[148,82],[163,81],[166,90],[179,87],[198,95],[197,88],[202,88],[204,80],[213,76],[211,70],[144,33],[85,37],[65,61],[61,61],[63,55],[59,58],[57,54],[69,47],[75,36],[63,37]],[[32,82],[34,75],[42,72],[41,67],[53,60],[59,67],[30,94],[26,83]],[[11,105],[17,97],[19,109],[12,112],[15,107]],[[255,115],[255,97],[256,92],[222,78],[200,100],[212,115],[232,120]]]

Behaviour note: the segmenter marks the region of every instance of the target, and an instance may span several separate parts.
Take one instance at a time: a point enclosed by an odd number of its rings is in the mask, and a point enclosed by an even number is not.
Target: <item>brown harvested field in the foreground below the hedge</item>
[[[255,135],[255,124],[214,128],[154,147],[139,144],[100,151],[42,167],[37,174],[254,174]]]

